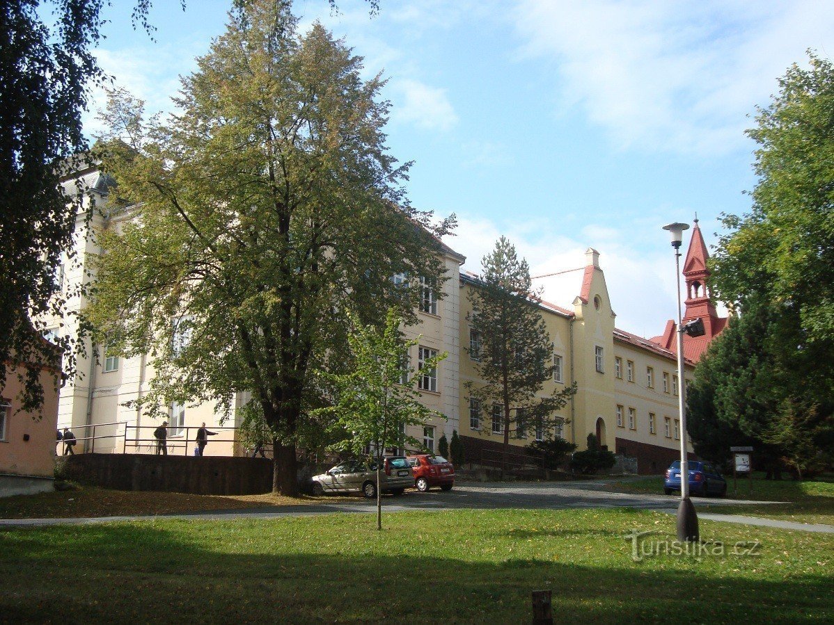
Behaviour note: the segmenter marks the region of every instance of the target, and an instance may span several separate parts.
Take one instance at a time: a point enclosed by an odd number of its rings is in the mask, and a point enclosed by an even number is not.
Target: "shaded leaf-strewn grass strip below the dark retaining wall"
[[[70,491],[0,498],[0,518],[129,517],[356,501],[357,498],[264,495],[188,495],[82,486]],[[2,619],[0,619],[2,620]]]

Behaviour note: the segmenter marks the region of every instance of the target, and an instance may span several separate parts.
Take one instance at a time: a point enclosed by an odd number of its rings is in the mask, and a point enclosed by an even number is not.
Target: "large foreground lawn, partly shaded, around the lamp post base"
[[[542,588],[560,622],[834,619],[834,535],[701,522],[724,555],[632,559],[626,532],[671,541],[674,522],[466,510],[387,514],[382,532],[369,514],[3,528],[0,620],[525,622]]]

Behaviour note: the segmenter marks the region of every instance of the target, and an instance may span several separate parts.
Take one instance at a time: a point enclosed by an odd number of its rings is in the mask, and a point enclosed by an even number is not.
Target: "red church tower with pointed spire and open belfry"
[[[684,301],[686,308],[683,321],[686,323],[700,317],[704,322],[704,336],[693,338],[684,335],[683,338],[684,356],[695,363],[701,359],[701,355],[706,352],[711,340],[721,333],[727,323],[726,317],[718,316],[716,307],[712,303],[709,287],[706,285],[710,278],[710,270],[706,267],[707,258],[710,258],[710,255],[706,251],[706,243],[704,243],[696,218],[682,272],[686,281],[686,300]],[[664,333],[652,338],[651,341],[672,352],[677,352],[676,326],[675,321],[670,319],[666,322]]]

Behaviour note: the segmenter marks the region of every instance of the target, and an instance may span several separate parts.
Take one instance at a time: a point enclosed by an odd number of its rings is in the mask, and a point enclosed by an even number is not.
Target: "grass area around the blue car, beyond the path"
[[[709,512],[722,514],[744,514],[748,517],[775,518],[780,521],[802,523],[826,523],[834,525],[834,481],[831,478],[816,478],[804,482],[794,480],[766,480],[764,473],[753,473],[753,493],[749,494],[749,483],[746,479],[738,481],[738,495],[733,495],[732,477],[727,479],[727,497],[766,502],[764,505],[710,505]],[[607,490],[618,493],[663,493],[663,478],[651,476],[634,480],[623,480],[606,484]],[[696,508],[700,498],[693,498]],[[705,501],[721,501],[708,498]],[[706,510],[706,506],[701,507]]]

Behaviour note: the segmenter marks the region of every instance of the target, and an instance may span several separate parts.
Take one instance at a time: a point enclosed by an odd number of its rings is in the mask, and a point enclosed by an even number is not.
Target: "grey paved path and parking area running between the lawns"
[[[386,512],[409,510],[460,510],[460,509],[577,509],[577,508],[614,508],[631,507],[661,512],[676,512],[678,499],[667,495],[646,495],[633,493],[610,493],[603,490],[600,482],[570,483],[464,483],[456,485],[453,490],[443,493],[433,490],[430,493],[409,491],[402,497],[386,497],[383,505]],[[711,505],[754,504],[766,502],[739,501],[726,498],[696,498],[696,507],[700,518],[738,522],[765,527],[801,530],[806,532],[834,533],[834,526],[811,525],[806,523],[775,521],[758,517],[742,517],[729,514],[711,514],[705,508]],[[243,519],[243,518],[280,518],[300,517],[313,514],[332,514],[338,512],[374,512],[375,504],[357,498],[356,502],[304,504],[299,506],[274,506],[263,508],[244,508],[238,510],[219,510],[216,512],[194,512],[190,514],[164,515],[165,518],[199,518],[199,519]],[[43,518],[43,519],[0,519],[0,527],[46,526],[61,524],[84,525],[98,522],[135,521],[153,517],[96,517],[96,518]]]

